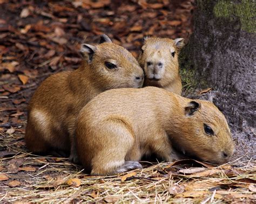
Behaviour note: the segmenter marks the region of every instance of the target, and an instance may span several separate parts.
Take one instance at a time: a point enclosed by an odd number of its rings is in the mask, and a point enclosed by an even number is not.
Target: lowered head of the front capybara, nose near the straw
[[[184,114],[183,137],[174,143],[185,154],[203,161],[226,163],[233,155],[234,143],[225,116],[213,103],[203,100],[188,102]]]

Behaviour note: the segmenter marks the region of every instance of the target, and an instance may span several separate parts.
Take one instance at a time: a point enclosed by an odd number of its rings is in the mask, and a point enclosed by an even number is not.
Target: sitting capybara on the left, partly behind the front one
[[[136,59],[105,38],[97,46],[82,45],[85,60],[76,71],[53,74],[37,88],[28,107],[25,142],[30,151],[71,149],[70,159],[77,161],[73,137],[80,109],[105,90],[142,87],[144,74]],[[106,61],[118,68],[107,68]]]

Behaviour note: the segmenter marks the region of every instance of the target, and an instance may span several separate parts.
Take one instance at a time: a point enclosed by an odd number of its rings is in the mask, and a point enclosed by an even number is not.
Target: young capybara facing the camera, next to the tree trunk
[[[156,86],[181,95],[178,54],[183,46],[183,38],[145,39],[138,58],[145,72],[144,86]]]

